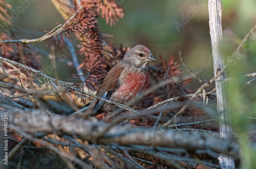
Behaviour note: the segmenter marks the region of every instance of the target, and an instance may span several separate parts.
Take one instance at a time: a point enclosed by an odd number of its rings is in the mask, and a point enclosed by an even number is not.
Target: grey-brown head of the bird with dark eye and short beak
[[[132,67],[146,71],[150,62],[155,62],[150,49],[143,45],[136,45],[127,51],[123,58],[124,62],[129,63]]]

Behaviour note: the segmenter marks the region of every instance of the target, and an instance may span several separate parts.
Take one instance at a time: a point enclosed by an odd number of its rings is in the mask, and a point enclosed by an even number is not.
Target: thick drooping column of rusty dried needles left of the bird
[[[97,81],[101,82],[106,75],[103,70],[102,60],[102,45],[101,33],[98,30],[97,13],[91,8],[81,9],[77,15],[67,25],[67,31],[73,33],[81,42],[79,53],[81,57],[80,68],[87,72],[87,77],[84,84],[93,89],[93,84]]]

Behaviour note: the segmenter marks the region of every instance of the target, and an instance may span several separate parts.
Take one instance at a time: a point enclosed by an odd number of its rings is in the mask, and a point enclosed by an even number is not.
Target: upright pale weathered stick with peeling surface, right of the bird
[[[219,72],[225,67],[224,59],[219,49],[220,41],[222,39],[222,1],[209,0],[208,9],[212,58],[214,61],[214,74],[217,76]],[[226,85],[225,79],[225,71],[223,71],[222,74],[216,79],[217,110],[219,114],[220,136],[223,138],[232,138],[230,115],[228,111],[226,96],[224,93]],[[221,154],[218,159],[221,168],[235,168],[233,158]]]

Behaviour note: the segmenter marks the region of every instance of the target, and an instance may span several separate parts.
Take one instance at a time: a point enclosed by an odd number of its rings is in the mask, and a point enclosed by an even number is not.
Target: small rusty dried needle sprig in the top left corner
[[[5,0],[0,0],[0,25],[4,25],[7,23],[11,25],[10,22],[11,16],[7,13],[7,8],[12,8],[9,4],[5,2]]]

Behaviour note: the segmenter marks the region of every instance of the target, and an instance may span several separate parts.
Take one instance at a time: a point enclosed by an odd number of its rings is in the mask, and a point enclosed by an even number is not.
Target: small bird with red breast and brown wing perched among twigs
[[[127,103],[148,88],[148,64],[155,61],[150,49],[143,45],[134,46],[109,71],[96,96],[121,104]],[[91,112],[91,116],[97,116],[103,111],[110,113],[116,108],[115,105],[94,98],[75,114],[87,110]]]

